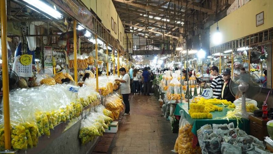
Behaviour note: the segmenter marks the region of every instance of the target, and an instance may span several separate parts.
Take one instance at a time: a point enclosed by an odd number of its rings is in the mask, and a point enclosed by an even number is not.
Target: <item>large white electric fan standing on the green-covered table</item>
[[[248,118],[245,101],[250,101],[257,97],[261,92],[261,87],[260,78],[252,72],[241,71],[232,77],[230,81],[230,91],[235,98],[239,97],[239,100],[242,101],[242,118]],[[246,98],[248,98],[248,100],[246,100]]]

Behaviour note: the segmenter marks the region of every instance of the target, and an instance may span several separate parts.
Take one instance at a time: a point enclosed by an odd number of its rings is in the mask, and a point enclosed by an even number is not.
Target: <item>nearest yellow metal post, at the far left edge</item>
[[[0,24],[2,39],[2,82],[4,108],[5,149],[11,149],[10,117],[9,117],[9,87],[8,87],[8,50],[7,50],[7,8],[6,0],[0,0]]]

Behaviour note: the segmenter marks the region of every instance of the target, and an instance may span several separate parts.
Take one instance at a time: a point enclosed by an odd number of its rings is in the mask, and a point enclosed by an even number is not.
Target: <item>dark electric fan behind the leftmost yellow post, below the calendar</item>
[[[19,86],[19,77],[13,70],[8,70],[8,86],[9,90],[16,89]],[[0,90],[3,87],[2,71],[0,72]]]

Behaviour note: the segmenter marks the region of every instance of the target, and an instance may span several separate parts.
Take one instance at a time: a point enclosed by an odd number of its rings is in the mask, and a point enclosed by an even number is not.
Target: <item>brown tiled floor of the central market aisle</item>
[[[106,152],[112,139],[107,150],[109,154],[172,153],[170,150],[174,148],[178,134],[171,132],[170,122],[161,116],[157,99],[154,96],[132,95],[130,109],[130,115],[120,120],[119,130],[114,137],[104,139],[104,135],[93,153]]]

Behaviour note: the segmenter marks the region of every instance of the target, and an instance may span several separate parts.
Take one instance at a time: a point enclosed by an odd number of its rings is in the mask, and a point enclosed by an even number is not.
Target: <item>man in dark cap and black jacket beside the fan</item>
[[[235,97],[232,95],[229,83],[231,82],[231,70],[225,69],[223,72],[223,79],[224,79],[224,85],[221,93],[221,99],[225,99],[227,101],[233,101],[235,100]]]

